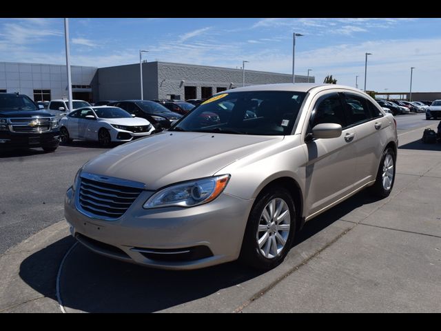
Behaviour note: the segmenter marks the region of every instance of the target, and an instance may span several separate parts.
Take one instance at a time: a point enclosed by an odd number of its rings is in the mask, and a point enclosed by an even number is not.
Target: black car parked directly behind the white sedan
[[[107,106],[123,108],[126,112],[134,114],[136,117],[147,119],[156,132],[170,128],[172,121],[181,119],[182,115],[172,112],[164,106],[154,101],[148,100],[124,100],[109,103]]]

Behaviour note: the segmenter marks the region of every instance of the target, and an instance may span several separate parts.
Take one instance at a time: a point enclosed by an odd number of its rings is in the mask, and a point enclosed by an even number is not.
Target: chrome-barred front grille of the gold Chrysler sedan
[[[142,192],[139,187],[117,185],[94,178],[99,176],[81,174],[79,185],[78,203],[88,216],[105,220],[119,219]]]

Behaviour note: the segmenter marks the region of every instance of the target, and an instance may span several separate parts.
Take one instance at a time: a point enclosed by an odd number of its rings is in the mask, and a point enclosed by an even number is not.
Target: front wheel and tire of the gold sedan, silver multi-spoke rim
[[[273,202],[274,204],[271,207],[270,205]],[[282,209],[277,214],[280,204]],[[273,222],[274,218],[270,216],[271,208],[276,211],[272,213],[273,217],[286,215],[280,220],[280,223]],[[266,217],[264,216],[265,211],[267,212]],[[270,219],[270,224],[265,218]],[[296,219],[296,207],[291,194],[285,188],[278,186],[267,188],[259,194],[249,214],[240,250],[240,261],[260,270],[270,270],[282,263],[294,240]],[[280,228],[278,228],[279,226]],[[261,229],[261,231],[258,231],[258,229]],[[285,244],[283,244],[283,241],[285,241]],[[276,243],[275,246],[274,243]]]

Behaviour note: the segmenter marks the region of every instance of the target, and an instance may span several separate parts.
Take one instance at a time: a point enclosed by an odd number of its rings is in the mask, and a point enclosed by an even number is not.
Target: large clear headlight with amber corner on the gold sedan
[[[145,201],[143,207],[158,208],[171,207],[193,207],[212,201],[225,189],[229,181],[229,174],[215,177],[196,179],[169,186],[156,192]]]

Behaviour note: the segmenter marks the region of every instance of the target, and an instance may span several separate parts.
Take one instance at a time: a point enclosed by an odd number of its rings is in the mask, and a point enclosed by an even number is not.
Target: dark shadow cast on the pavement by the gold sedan
[[[360,192],[307,222],[294,245],[354,208],[374,201],[367,192]],[[68,250],[65,244],[72,242],[71,237],[65,237],[25,259],[21,263],[21,278],[35,290],[57,300],[54,280],[62,258],[59,254],[65,254]],[[54,257],[57,257],[55,263]],[[65,308],[84,312],[156,312],[207,297],[261,274],[237,261],[201,270],[156,270],[103,257],[78,244],[65,260],[60,288]]]

